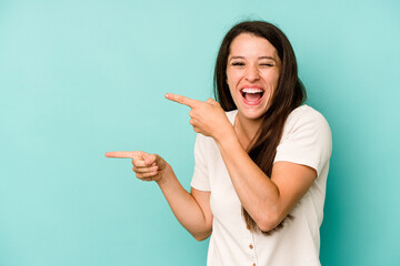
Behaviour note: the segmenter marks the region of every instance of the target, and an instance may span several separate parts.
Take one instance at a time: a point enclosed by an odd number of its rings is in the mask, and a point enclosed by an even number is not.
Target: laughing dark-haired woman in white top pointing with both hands
[[[191,108],[200,133],[190,193],[157,154],[107,156],[132,157],[137,177],[158,183],[196,239],[211,235],[208,265],[320,265],[331,132],[301,105],[290,42],[268,22],[234,25],[218,53],[214,88],[218,102],[166,94]]]

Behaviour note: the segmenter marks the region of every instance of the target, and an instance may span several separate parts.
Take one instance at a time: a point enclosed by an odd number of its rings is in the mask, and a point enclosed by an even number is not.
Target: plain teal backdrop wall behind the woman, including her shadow
[[[397,0],[0,0],[0,265],[206,265],[158,186],[104,153],[159,153],[189,190],[196,133],[163,94],[212,96],[244,19],[286,32],[332,129],[322,265],[400,265],[399,14]]]

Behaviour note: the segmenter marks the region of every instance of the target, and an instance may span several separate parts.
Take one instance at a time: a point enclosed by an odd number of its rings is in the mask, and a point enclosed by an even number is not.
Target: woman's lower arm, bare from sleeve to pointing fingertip
[[[212,232],[210,192],[187,192],[171,165],[157,154],[144,152],[108,152],[107,157],[132,158],[133,172],[142,181],[156,181],[179,223],[197,239],[203,241]]]

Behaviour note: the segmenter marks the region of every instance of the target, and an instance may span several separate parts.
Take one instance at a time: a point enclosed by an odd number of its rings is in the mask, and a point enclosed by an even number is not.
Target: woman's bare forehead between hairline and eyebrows
[[[278,58],[278,52],[267,39],[252,33],[241,33],[231,42],[229,57]]]

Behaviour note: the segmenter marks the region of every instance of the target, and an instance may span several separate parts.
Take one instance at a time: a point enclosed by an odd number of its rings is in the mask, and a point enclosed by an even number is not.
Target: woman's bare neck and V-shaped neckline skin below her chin
[[[262,120],[249,120],[238,113],[234,121],[234,131],[244,150],[248,150],[251,141],[258,133]]]

